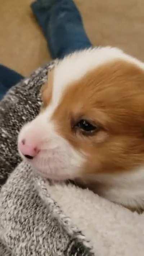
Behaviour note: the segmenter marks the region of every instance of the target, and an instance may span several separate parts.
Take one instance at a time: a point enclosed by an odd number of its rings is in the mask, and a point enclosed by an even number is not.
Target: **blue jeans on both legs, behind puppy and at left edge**
[[[76,50],[89,48],[81,15],[72,0],[36,0],[31,4],[53,59],[63,58]],[[0,99],[23,76],[0,65]]]

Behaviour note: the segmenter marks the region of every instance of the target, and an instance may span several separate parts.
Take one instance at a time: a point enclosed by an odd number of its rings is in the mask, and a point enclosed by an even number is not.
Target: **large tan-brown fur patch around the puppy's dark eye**
[[[85,136],[72,129],[80,119],[99,131]],[[122,60],[96,68],[68,86],[52,120],[58,133],[85,154],[83,172],[132,170],[144,163],[143,70]]]

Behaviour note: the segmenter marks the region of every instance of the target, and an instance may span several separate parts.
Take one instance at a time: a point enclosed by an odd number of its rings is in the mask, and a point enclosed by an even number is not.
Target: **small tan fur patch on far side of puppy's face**
[[[41,87],[42,109],[46,108],[51,100],[53,91],[54,68],[48,72],[48,80]]]

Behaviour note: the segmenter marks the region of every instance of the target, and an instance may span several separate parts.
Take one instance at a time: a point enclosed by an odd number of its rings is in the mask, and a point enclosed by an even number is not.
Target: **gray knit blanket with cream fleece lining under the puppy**
[[[144,215],[87,189],[52,183],[21,162],[17,136],[39,113],[54,63],[37,69],[0,102],[0,256],[142,256]]]

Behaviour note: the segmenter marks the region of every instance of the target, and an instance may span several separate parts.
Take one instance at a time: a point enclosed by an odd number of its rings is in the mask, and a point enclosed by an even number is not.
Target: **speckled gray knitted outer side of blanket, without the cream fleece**
[[[93,255],[85,236],[50,198],[45,181],[17,152],[19,130],[39,113],[40,88],[53,65],[37,69],[0,102],[0,255]]]

